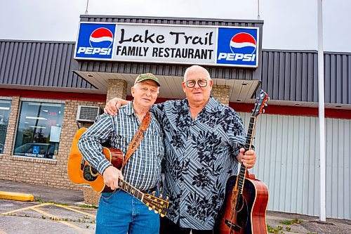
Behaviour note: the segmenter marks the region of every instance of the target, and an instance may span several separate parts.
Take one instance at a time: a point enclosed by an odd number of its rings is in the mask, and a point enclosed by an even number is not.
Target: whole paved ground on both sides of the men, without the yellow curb
[[[0,195],[1,190],[30,193],[34,202],[0,199],[0,234],[95,233],[97,210],[81,206],[81,191],[0,180]],[[351,220],[320,222],[315,216],[282,212],[267,211],[267,226],[279,234],[351,233]]]

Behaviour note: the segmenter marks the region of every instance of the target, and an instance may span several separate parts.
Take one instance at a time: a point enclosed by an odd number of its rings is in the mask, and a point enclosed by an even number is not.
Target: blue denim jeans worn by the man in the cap
[[[157,192],[158,195],[158,192]],[[101,193],[96,232],[98,234],[158,234],[159,214],[149,210],[143,202],[117,189]]]

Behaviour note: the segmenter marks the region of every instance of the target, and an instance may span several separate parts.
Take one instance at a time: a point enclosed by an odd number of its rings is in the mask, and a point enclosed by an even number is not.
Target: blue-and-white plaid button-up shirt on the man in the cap
[[[161,161],[164,158],[161,127],[154,115],[150,114],[150,125],[122,171],[124,180],[139,190],[157,186],[161,178]],[[110,140],[112,148],[119,148],[126,155],[128,145],[140,124],[132,102],[121,107],[117,115],[100,115],[97,122],[79,139],[79,150],[86,162],[102,174],[111,163],[102,154],[101,143]]]

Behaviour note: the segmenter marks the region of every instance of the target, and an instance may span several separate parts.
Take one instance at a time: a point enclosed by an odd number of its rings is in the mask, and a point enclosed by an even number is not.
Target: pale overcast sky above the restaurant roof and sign
[[[260,0],[263,48],[317,50],[317,1]],[[89,0],[88,14],[258,19],[257,0]],[[324,51],[351,52],[351,0],[324,0]],[[0,39],[75,41],[86,0],[2,0]]]

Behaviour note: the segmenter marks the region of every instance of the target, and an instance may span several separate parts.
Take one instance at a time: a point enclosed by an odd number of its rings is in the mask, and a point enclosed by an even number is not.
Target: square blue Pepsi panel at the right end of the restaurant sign
[[[216,63],[258,67],[258,28],[218,28]]]

